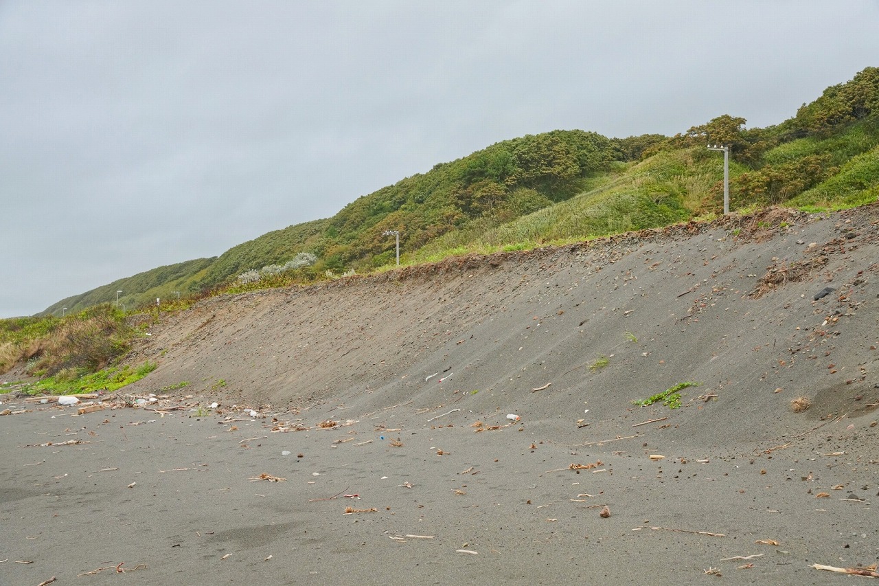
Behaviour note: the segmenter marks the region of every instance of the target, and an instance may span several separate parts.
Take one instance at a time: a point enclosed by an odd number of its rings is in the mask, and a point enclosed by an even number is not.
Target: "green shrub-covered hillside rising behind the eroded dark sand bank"
[[[655,227],[723,210],[723,157],[731,147],[730,207],[836,209],[879,197],[879,69],[867,68],[767,128],[723,114],[676,136],[607,138],[553,130],[493,144],[364,195],[331,218],[300,223],[191,260],[63,299],[44,313],[99,303],[128,310],[223,289],[239,275],[309,281],[388,266],[400,231],[402,262],[490,252]],[[310,266],[294,262],[313,254]],[[251,275],[257,275],[255,273]],[[259,275],[253,277],[259,278]]]

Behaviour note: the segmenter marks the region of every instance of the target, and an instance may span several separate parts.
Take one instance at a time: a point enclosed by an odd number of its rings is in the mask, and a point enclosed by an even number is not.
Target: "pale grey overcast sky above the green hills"
[[[0,0],[0,318],[556,128],[764,127],[876,0]]]

